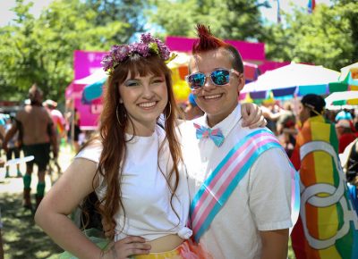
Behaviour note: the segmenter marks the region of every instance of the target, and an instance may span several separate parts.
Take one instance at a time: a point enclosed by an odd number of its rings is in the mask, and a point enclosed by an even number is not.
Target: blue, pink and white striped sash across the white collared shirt
[[[203,182],[195,194],[190,208],[193,237],[196,242],[199,242],[200,237],[209,229],[210,223],[226,204],[234,188],[250,170],[251,165],[270,148],[283,149],[271,131],[268,129],[256,130],[234,145],[224,159],[218,163],[216,169],[210,173],[208,179]],[[290,173],[292,184],[291,217],[294,224],[299,214],[300,186],[298,172],[294,170],[292,164]]]

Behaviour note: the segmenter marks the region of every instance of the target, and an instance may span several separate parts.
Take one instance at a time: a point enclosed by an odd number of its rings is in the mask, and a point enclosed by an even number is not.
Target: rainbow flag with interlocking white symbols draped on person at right
[[[297,259],[358,258],[357,214],[337,155],[333,124],[315,116],[296,139],[301,169],[300,219],[292,242]]]

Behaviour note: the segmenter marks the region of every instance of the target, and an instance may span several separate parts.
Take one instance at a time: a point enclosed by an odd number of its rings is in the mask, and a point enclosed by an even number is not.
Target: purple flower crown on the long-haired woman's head
[[[102,59],[103,70],[111,74],[116,65],[124,62],[133,54],[140,54],[143,57],[158,54],[165,63],[169,63],[176,56],[176,54],[170,54],[169,48],[160,39],[152,38],[150,33],[143,33],[140,43],[112,46],[109,54],[106,54]]]

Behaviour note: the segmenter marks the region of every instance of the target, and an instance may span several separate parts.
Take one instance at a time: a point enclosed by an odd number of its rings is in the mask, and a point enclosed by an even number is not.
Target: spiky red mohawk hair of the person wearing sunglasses
[[[210,28],[203,24],[196,26],[199,40],[192,45],[192,54],[214,50],[219,47],[228,46],[227,43],[211,34]]]

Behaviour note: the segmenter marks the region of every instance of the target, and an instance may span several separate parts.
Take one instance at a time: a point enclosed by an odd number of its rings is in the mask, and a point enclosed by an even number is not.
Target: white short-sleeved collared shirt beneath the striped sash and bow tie
[[[220,147],[210,138],[199,140],[195,136],[193,123],[208,127],[206,115],[181,125],[191,199],[232,147],[257,130],[243,128],[241,118],[239,104],[224,121],[212,128],[221,129],[225,136]],[[290,228],[290,203],[290,165],[285,151],[269,149],[252,164],[209,230],[200,238],[200,244],[214,258],[260,258],[260,231]]]

